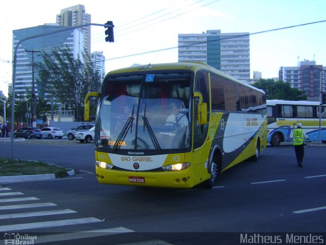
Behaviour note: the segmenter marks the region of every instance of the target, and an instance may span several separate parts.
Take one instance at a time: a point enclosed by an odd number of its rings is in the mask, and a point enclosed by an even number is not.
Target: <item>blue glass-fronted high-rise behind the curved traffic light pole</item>
[[[24,28],[13,31],[13,54],[14,50],[20,40],[26,37],[35,36],[39,34],[50,33],[58,30],[64,30],[65,27],[60,27],[58,24],[45,24],[37,27]],[[75,55],[83,50],[83,33],[79,30],[63,31],[56,34],[46,35],[22,42],[17,47],[16,60],[16,79],[15,79],[15,93],[16,99],[24,99],[33,87],[33,58],[34,64],[42,62],[41,54],[38,52],[51,52],[56,47],[63,47],[68,45],[68,48]],[[35,52],[31,52],[35,51]],[[33,57],[34,56],[34,57]],[[34,70],[34,84],[35,94],[38,97],[42,94],[41,85],[39,84],[37,69]]]

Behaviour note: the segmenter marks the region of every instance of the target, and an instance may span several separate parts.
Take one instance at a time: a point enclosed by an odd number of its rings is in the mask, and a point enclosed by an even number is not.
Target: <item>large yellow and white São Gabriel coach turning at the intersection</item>
[[[212,188],[222,171],[266,148],[265,93],[204,63],[108,72],[95,122],[102,184]]]

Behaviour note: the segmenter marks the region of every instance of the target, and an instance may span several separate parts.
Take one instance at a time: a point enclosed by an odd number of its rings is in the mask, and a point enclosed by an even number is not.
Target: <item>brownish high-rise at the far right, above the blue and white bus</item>
[[[304,91],[309,101],[319,101],[321,91],[325,92],[326,67],[316,65],[316,61],[300,61],[297,66],[280,67],[279,80],[287,82],[291,88]]]

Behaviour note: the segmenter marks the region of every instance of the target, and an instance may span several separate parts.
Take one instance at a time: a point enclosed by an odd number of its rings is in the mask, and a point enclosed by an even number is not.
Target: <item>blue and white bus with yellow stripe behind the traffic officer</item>
[[[326,143],[326,106],[321,106],[320,140]],[[299,122],[312,141],[319,141],[319,102],[267,100],[267,142],[293,142],[291,130]]]

